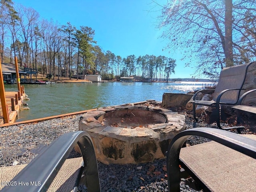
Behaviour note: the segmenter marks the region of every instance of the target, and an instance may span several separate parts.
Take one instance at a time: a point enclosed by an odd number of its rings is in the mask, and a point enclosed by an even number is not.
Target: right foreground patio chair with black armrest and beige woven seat
[[[191,135],[213,141],[182,148]],[[246,136],[246,137],[244,137]],[[204,191],[256,191],[256,135],[200,127],[178,133],[167,153],[168,189],[180,192],[180,167]]]

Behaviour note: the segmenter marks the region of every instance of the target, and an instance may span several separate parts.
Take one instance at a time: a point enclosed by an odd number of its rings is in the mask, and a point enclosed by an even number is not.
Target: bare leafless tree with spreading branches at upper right
[[[159,27],[164,28],[162,37],[170,40],[167,49],[179,48],[184,58],[190,58],[187,65],[213,75],[232,66],[233,58],[237,65],[241,51],[248,53],[248,45],[242,44],[253,39],[248,25],[255,23],[249,13],[255,15],[252,0],[169,0],[162,6]]]

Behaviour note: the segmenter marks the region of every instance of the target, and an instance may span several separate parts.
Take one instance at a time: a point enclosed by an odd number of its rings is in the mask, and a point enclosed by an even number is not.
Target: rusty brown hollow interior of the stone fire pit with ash
[[[116,110],[98,118],[102,125],[113,127],[148,127],[149,124],[166,123],[166,118],[156,112],[147,110]]]

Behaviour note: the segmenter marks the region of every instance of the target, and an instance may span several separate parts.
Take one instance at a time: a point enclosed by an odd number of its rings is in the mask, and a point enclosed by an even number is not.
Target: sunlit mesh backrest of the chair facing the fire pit
[[[252,63],[246,63],[222,69],[214,91],[213,100],[216,101],[220,92],[225,89],[242,89],[246,79],[247,69],[251,64]],[[220,102],[236,103],[239,99],[240,92],[240,90],[228,91],[222,95]]]

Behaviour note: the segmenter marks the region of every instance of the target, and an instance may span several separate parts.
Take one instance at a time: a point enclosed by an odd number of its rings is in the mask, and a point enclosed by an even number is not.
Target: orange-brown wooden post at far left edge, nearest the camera
[[[3,78],[3,73],[2,73],[1,61],[0,61],[0,100],[1,100],[1,105],[2,105],[4,123],[9,123],[9,114],[8,114],[8,108],[6,105],[6,97],[5,97],[5,92],[4,92],[4,78]]]

